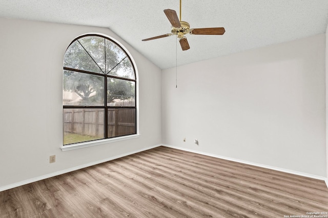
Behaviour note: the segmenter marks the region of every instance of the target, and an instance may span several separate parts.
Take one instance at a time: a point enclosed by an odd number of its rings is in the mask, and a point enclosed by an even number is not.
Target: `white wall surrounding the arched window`
[[[161,143],[161,70],[113,32],[6,18],[0,27],[0,190]],[[63,57],[75,37],[90,32],[119,40],[136,62],[141,136],[62,152]]]

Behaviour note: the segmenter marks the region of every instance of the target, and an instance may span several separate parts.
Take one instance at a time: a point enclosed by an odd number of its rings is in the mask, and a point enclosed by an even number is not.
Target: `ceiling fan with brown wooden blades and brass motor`
[[[186,34],[191,35],[223,35],[226,30],[223,27],[217,28],[198,28],[198,29],[190,29],[190,25],[186,21],[181,20],[181,0],[180,0],[180,19],[176,14],[176,11],[171,9],[164,10],[165,15],[168,17],[171,22],[171,33],[151,37],[148,39],[142,39],[142,41],[148,41],[153,39],[159,39],[167,36],[177,35],[180,41],[180,45],[183,51],[190,49],[189,43],[186,38]]]

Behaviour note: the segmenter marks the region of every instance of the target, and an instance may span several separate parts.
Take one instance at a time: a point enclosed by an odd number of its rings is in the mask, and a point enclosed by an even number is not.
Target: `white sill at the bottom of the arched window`
[[[115,141],[122,141],[122,140],[128,140],[132,138],[139,138],[139,134],[135,135],[127,135],[127,136],[120,136],[120,137],[115,137],[115,138],[107,138],[107,139],[101,139],[101,140],[96,140],[96,141],[87,141],[87,142],[81,142],[81,143],[76,143],[76,144],[71,144],[70,146],[63,146],[61,147],[61,151],[69,151],[69,150],[74,150],[74,149],[81,149],[81,148],[87,148],[91,146],[98,146],[99,144],[106,144],[106,143],[111,143]]]

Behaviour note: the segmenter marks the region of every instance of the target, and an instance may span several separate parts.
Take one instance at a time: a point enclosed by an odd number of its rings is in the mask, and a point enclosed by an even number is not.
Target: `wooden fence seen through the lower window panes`
[[[108,109],[108,137],[136,133],[135,108]],[[104,109],[64,109],[64,132],[104,137]]]

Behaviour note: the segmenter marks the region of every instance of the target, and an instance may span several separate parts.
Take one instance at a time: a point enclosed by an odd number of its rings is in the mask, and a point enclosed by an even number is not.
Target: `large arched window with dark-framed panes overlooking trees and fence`
[[[110,38],[88,34],[64,57],[64,146],[136,134],[136,74]]]

